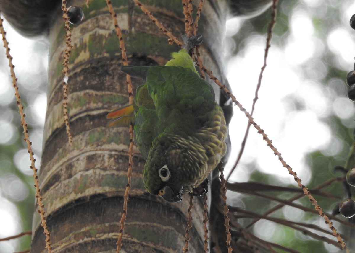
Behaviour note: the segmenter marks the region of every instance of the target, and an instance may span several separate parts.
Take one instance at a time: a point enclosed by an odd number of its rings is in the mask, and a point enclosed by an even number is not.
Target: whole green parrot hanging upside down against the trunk
[[[145,84],[132,105],[108,114],[109,126],[134,124],[135,141],[146,163],[144,186],[166,201],[182,192],[207,192],[208,174],[226,153],[227,126],[212,86],[196,71],[186,49],[165,66],[123,66]]]

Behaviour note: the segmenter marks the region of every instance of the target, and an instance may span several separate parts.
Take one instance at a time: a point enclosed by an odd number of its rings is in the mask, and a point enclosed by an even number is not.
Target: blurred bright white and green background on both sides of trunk
[[[334,172],[334,167],[345,164],[353,142],[355,107],[354,102],[346,97],[348,86],[345,83],[346,74],[354,68],[355,30],[349,26],[353,14],[355,2],[352,0],[281,0],[278,4],[272,46],[253,117],[309,188],[340,175]],[[271,10],[268,10],[252,19],[230,19],[226,26],[226,73],[233,94],[247,111],[251,110],[263,66],[270,19]],[[46,110],[48,47],[23,38],[6,21],[4,28],[39,167]],[[5,49],[1,47],[0,238],[31,230],[32,225],[32,170],[17,111]],[[244,113],[235,107],[230,125],[233,147],[225,174],[234,164],[246,126]],[[282,168],[253,127],[244,155],[230,180],[296,186],[293,177]],[[344,196],[341,183],[331,185],[327,191]],[[316,199],[327,212],[339,202],[321,197]],[[275,205],[239,193],[229,193],[228,201],[254,212]],[[310,206],[308,202],[306,198],[296,201]],[[327,228],[322,219],[291,207],[285,207],[275,215]],[[241,219],[240,222],[245,225],[248,221]],[[339,252],[334,246],[266,220],[256,223],[252,230],[264,240],[300,252]],[[29,248],[30,243],[30,236],[0,242],[0,253],[21,251]]]

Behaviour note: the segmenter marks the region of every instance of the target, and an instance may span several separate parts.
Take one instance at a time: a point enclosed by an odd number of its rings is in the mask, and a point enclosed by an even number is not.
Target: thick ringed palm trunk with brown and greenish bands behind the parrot
[[[123,31],[129,64],[163,65],[171,52],[179,50],[177,45],[168,44],[168,37],[131,1],[112,4]],[[61,83],[66,39],[58,9],[49,29],[41,193],[54,252],[116,252],[130,137],[127,128],[107,128],[106,115],[128,104],[126,78],[120,71],[119,41],[106,2],[91,1],[89,8],[83,1],[68,2],[67,6],[71,5],[81,6],[84,11],[83,21],[71,25],[68,108],[73,145],[68,143],[63,122]],[[180,0],[148,1],[147,7],[182,41],[185,23]],[[200,51],[204,64],[224,83],[225,13],[225,1],[205,1],[198,31],[203,35]],[[132,79],[132,83],[135,91],[142,81]],[[213,85],[219,99],[220,90]],[[225,98],[220,101],[225,102]],[[148,194],[142,181],[144,160],[137,148],[135,153],[122,252],[181,252],[189,197],[171,204]],[[202,199],[195,197],[193,204],[189,252],[202,252]],[[39,218],[34,213],[32,253],[46,252]]]

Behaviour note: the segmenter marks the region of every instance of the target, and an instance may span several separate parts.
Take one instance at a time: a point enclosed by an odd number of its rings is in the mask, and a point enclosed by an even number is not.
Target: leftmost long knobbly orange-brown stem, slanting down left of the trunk
[[[44,231],[43,234],[46,236],[46,249],[48,250],[48,253],[52,252],[52,247],[50,246],[50,232],[48,231],[47,227],[47,217],[44,216],[44,205],[42,203],[42,196],[40,195],[40,189],[39,189],[39,182],[38,182],[38,176],[37,176],[37,168],[35,167],[35,159],[33,157],[33,151],[32,151],[32,142],[29,141],[29,135],[28,135],[28,129],[27,129],[27,123],[26,120],[24,119],[26,115],[23,113],[23,105],[21,102],[21,96],[20,92],[18,91],[18,86],[17,86],[17,78],[15,75],[14,68],[15,66],[12,64],[12,56],[10,55],[10,48],[9,48],[9,42],[7,42],[5,38],[5,30],[4,27],[2,26],[2,22],[4,20],[0,18],[0,33],[2,35],[2,41],[4,42],[4,47],[6,49],[6,58],[9,59],[9,67],[10,67],[10,72],[11,72],[11,77],[12,77],[12,84],[13,88],[15,88],[15,96],[16,96],[16,103],[18,106],[18,112],[20,113],[21,116],[21,126],[23,127],[23,133],[24,137],[23,140],[26,141],[27,143],[27,151],[29,153],[29,159],[31,160],[31,166],[30,168],[33,170],[33,178],[34,178],[34,187],[36,189],[35,196],[37,198],[37,205],[38,205],[38,213],[41,216],[41,226],[43,227]]]

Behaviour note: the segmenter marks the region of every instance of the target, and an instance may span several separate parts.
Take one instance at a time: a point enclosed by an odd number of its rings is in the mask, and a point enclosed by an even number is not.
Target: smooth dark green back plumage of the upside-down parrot
[[[169,125],[160,126],[166,127],[165,131],[187,131],[187,134],[191,129],[201,127],[204,114],[215,105],[212,86],[190,69],[152,67],[146,81],[159,120],[162,123],[169,122]]]

